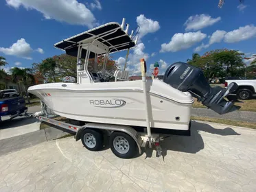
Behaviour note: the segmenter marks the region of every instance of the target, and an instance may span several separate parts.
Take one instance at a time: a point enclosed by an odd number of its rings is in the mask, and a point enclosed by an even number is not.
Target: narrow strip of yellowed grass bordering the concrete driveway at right
[[[244,128],[253,128],[256,129],[256,123],[248,123],[245,121],[234,121],[230,119],[218,119],[218,118],[209,118],[209,117],[191,117],[193,120],[198,121],[208,121],[212,123],[221,123],[225,125],[233,125],[238,127],[244,127]]]

